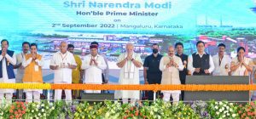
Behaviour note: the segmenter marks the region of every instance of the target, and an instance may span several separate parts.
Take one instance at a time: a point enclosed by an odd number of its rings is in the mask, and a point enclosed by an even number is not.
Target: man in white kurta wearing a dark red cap
[[[98,54],[96,45],[90,45],[90,54],[86,55],[83,60],[82,69],[85,70],[85,84],[102,84],[102,70],[107,68],[106,62],[102,55]],[[101,90],[86,90],[86,93],[100,94]]]

